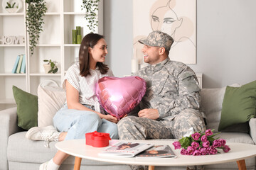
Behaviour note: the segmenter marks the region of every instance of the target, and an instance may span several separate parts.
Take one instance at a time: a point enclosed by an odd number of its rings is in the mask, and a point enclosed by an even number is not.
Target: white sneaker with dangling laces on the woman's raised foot
[[[55,130],[53,125],[46,127],[33,127],[26,132],[26,138],[28,140],[43,140],[45,141],[45,147],[49,147],[50,141],[58,141],[60,132]]]

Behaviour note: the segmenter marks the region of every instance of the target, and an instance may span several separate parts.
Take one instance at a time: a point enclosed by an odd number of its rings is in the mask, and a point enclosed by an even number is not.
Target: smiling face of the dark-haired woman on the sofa
[[[90,59],[97,62],[105,62],[105,57],[107,55],[107,42],[105,39],[98,40],[97,44],[90,48],[89,50]]]

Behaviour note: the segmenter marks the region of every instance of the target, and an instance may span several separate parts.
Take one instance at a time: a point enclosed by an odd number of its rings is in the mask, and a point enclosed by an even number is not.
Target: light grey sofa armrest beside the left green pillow
[[[21,131],[17,125],[17,108],[9,108],[0,111],[0,165],[3,169],[8,169],[7,145],[9,136]]]

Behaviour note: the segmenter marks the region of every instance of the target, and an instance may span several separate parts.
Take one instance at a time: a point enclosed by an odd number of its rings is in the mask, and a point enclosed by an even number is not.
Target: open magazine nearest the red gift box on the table
[[[153,144],[149,143],[139,143],[139,142],[117,142],[114,145],[103,149],[99,153],[100,156],[117,156],[117,157],[134,157],[135,155],[143,152]]]

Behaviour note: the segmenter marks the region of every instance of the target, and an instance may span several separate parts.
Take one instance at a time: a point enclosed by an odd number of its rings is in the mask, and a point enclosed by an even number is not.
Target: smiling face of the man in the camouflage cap
[[[152,47],[149,45],[144,45],[142,48],[144,62],[149,64],[157,64],[161,62],[160,60],[160,47]]]

